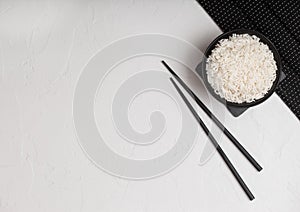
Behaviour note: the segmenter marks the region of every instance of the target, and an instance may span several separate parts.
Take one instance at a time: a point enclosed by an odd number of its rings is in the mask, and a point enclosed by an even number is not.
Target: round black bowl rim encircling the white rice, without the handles
[[[273,83],[273,86],[262,98],[257,99],[253,102],[249,102],[249,103],[248,102],[243,102],[243,103],[229,102],[229,101],[225,100],[224,98],[221,98],[218,94],[215,93],[214,89],[211,87],[211,85],[210,85],[210,83],[208,82],[208,79],[207,79],[207,72],[206,72],[207,58],[209,57],[212,50],[215,48],[215,46],[218,44],[218,42],[220,40],[227,39],[227,38],[229,38],[229,36],[231,36],[233,34],[256,35],[258,38],[260,38],[260,42],[268,45],[269,49],[273,52],[274,59],[276,61],[277,72],[276,72],[276,79]],[[212,96],[214,96],[217,100],[224,103],[225,105],[234,106],[234,107],[251,107],[251,106],[255,106],[255,105],[258,105],[258,104],[264,102],[265,100],[267,100],[275,92],[275,89],[276,89],[276,87],[279,83],[280,73],[281,73],[281,70],[282,70],[282,62],[281,62],[281,59],[280,59],[280,55],[279,55],[276,47],[274,46],[274,44],[268,38],[266,38],[263,34],[261,34],[259,32],[256,32],[254,30],[249,30],[249,29],[237,29],[237,30],[225,32],[225,33],[221,34],[220,36],[218,36],[214,41],[212,41],[210,43],[210,45],[207,47],[204,55],[205,55],[205,57],[202,61],[202,68],[201,68],[202,69],[201,75],[202,75],[204,84],[205,84],[206,88],[209,90],[209,92],[212,94]]]

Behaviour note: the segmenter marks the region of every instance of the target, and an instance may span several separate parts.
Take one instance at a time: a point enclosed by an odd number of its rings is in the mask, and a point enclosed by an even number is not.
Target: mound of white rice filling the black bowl
[[[214,91],[235,103],[262,98],[272,87],[277,70],[269,47],[249,34],[233,34],[220,40],[206,67]]]

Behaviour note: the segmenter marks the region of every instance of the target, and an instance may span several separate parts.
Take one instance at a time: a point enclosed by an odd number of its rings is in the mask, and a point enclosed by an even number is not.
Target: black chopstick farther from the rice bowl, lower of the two
[[[224,162],[226,163],[226,165],[230,169],[230,171],[233,174],[233,176],[235,177],[235,179],[238,181],[238,183],[240,184],[240,186],[243,188],[244,192],[247,194],[248,198],[250,200],[253,200],[255,198],[254,195],[251,193],[250,189],[248,188],[248,186],[246,185],[246,183],[243,181],[242,177],[236,171],[236,169],[234,168],[234,166],[230,162],[229,158],[226,156],[225,152],[219,146],[219,144],[216,141],[216,139],[210,133],[209,129],[206,127],[206,125],[204,124],[204,122],[202,121],[202,119],[198,116],[197,112],[194,110],[194,108],[191,105],[191,103],[184,96],[184,94],[182,93],[182,91],[180,90],[180,88],[176,85],[176,83],[174,82],[174,80],[172,78],[170,78],[170,80],[171,80],[172,84],[175,86],[175,88],[176,88],[177,92],[179,93],[179,95],[182,97],[182,99],[185,102],[185,104],[187,105],[187,107],[190,109],[190,111],[194,115],[194,117],[197,120],[197,122],[200,124],[200,126],[202,127],[202,129],[204,130],[204,132],[207,134],[207,136],[211,140],[212,144],[215,146],[217,152],[220,154],[220,156],[222,157],[222,159],[224,160]]]

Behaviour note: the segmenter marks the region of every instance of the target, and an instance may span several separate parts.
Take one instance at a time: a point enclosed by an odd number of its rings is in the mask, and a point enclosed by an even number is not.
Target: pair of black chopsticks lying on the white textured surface
[[[247,150],[238,142],[238,140],[226,129],[226,127],[217,119],[215,115],[204,105],[204,103],[194,94],[194,92],[179,78],[179,76],[170,68],[170,66],[165,62],[162,61],[162,64],[168,69],[168,71],[173,75],[173,77],[181,84],[181,86],[187,91],[187,93],[196,101],[196,103],[202,108],[202,110],[212,119],[212,121],[224,132],[224,134],[229,138],[229,140],[240,150],[240,152],[248,159],[248,161],[256,168],[257,171],[261,171],[262,167],[257,163],[257,161],[247,152]],[[234,168],[233,164],[230,162],[229,158],[226,156],[225,152],[219,146],[216,139],[210,133],[209,129],[206,127],[202,119],[199,117],[191,103],[187,100],[184,96],[180,88],[177,86],[175,81],[170,78],[172,84],[176,88],[177,92],[200,124],[204,132],[207,134],[209,139],[211,140],[212,144],[215,146],[217,152],[220,154],[228,168],[230,169],[231,173],[234,175],[238,183],[243,188],[244,192],[247,194],[250,200],[254,199],[254,195],[251,193],[250,189],[243,181],[242,177],[239,175],[237,170]]]

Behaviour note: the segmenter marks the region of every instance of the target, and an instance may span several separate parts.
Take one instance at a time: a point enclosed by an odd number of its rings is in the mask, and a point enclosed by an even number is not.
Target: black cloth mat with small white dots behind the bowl
[[[286,78],[276,93],[300,119],[300,1],[197,0],[223,31],[247,28],[277,47]]]

